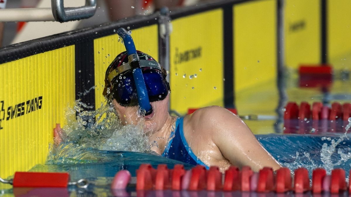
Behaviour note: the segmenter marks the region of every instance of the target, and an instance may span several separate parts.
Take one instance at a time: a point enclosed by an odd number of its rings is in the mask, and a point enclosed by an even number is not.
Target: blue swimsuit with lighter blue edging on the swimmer
[[[183,133],[183,120],[184,117],[177,118],[176,129],[172,131],[170,138],[173,136],[174,137],[168,142],[168,145],[162,156],[170,159],[176,159],[178,161],[192,165],[204,165],[207,169],[209,169],[206,164],[204,164],[200,159],[197,158],[196,155],[194,155],[193,151],[186,142]]]

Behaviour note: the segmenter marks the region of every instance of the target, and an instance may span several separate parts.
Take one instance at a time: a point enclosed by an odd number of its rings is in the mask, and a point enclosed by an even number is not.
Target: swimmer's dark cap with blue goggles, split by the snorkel
[[[166,70],[150,55],[137,51],[150,102],[163,100],[170,90]],[[102,93],[108,99],[116,99],[122,106],[136,106],[137,94],[128,62],[127,52],[115,57],[105,74],[105,88]],[[112,98],[111,98],[112,96]]]

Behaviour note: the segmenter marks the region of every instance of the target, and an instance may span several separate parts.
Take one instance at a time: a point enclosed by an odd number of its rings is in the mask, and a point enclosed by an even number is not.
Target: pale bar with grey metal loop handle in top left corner
[[[85,6],[65,8],[64,0],[51,0],[51,8],[0,9],[0,21],[59,21],[86,19],[95,14],[97,0],[85,0]]]

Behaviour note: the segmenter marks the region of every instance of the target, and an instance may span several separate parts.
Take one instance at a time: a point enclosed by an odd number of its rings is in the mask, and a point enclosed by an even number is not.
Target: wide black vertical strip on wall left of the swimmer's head
[[[90,40],[75,44],[75,100],[95,107],[94,86],[94,41]]]

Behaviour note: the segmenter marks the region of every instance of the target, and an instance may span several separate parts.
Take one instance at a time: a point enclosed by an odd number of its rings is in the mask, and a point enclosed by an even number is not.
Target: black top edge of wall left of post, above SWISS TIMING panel
[[[116,34],[117,29],[123,27],[127,29],[136,29],[158,24],[158,13],[149,16],[135,16],[133,18],[122,19],[118,22],[109,22],[101,26],[74,30],[54,34],[47,37],[20,42],[14,45],[9,45],[0,48],[0,64],[18,60],[24,57],[44,53],[49,50],[62,48],[65,46],[75,45],[86,41],[92,41],[96,38],[101,38],[107,35]]]

